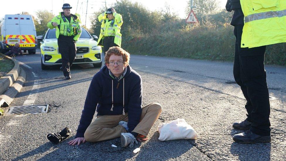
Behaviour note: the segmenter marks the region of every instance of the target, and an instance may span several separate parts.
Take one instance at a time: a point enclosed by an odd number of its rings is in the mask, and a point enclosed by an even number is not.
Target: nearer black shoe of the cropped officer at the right
[[[257,135],[248,130],[244,133],[239,133],[234,135],[233,140],[236,143],[242,143],[242,144],[269,143],[271,141],[271,136]]]

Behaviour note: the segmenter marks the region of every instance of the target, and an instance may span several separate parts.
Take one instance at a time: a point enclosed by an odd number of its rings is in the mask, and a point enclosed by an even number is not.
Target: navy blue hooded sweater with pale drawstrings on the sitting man
[[[97,72],[91,80],[84,109],[82,110],[76,138],[84,137],[84,132],[90,125],[95,111],[97,116],[122,115],[123,113],[123,81],[124,81],[124,111],[128,113],[128,129],[133,131],[139,123],[142,113],[142,81],[141,76],[126,67],[124,79],[118,82],[109,75],[105,66]],[[112,80],[113,80],[113,111],[112,108]]]

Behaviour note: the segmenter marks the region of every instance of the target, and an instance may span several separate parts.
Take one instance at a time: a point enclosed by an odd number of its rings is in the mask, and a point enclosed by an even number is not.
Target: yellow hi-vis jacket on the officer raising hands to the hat
[[[97,45],[103,46],[103,39],[105,36],[114,36],[114,43],[121,46],[120,27],[123,23],[122,16],[119,13],[113,13],[115,17],[113,20],[108,21],[107,14],[101,13],[98,16],[98,21],[101,22],[100,35],[97,41]]]

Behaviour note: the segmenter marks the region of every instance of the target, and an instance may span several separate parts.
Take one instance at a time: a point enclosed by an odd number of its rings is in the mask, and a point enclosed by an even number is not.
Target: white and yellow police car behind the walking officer
[[[43,36],[37,36],[41,48],[41,67],[42,70],[49,69],[51,65],[61,65],[62,55],[59,53],[59,47],[56,38],[56,29],[48,29]],[[81,36],[76,42],[76,57],[73,64],[92,63],[94,67],[101,67],[101,52],[100,46],[97,46],[97,36],[91,36],[87,30],[81,28]]]

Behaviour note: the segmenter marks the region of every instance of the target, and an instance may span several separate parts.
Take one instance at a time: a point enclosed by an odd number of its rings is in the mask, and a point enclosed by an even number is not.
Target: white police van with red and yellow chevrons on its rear
[[[5,15],[0,19],[0,32],[2,53],[9,50],[4,43],[10,46],[18,43],[21,50],[28,50],[29,54],[36,53],[37,33],[32,16],[20,14]]]

